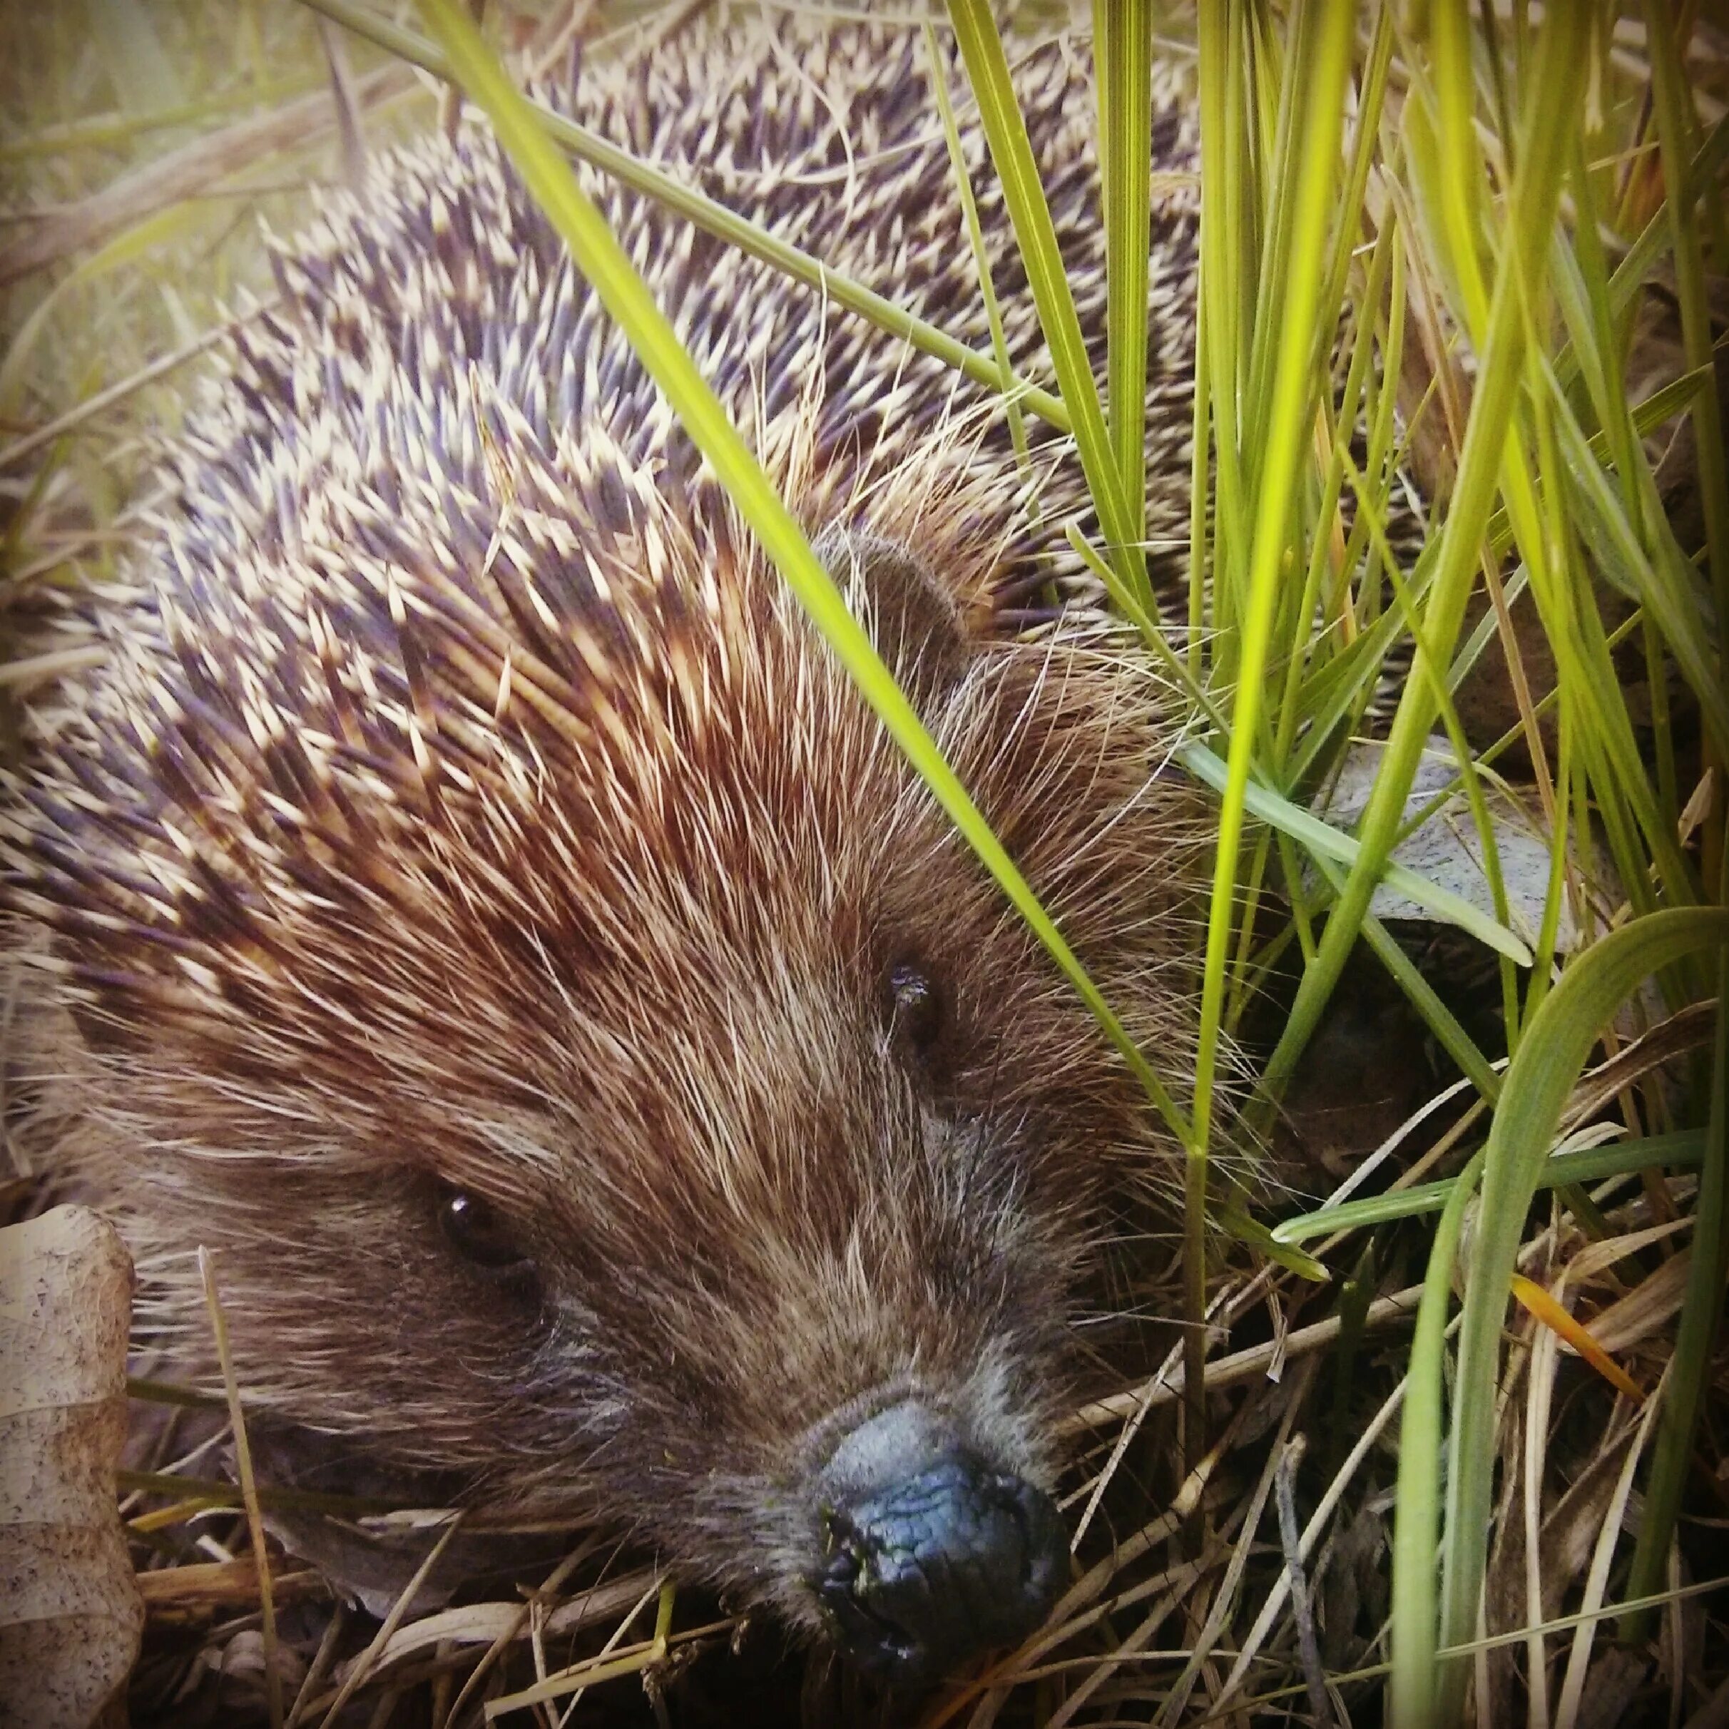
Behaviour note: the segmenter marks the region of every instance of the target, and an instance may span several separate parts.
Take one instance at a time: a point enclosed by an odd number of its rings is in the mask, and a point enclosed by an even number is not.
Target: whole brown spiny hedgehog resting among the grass
[[[1094,365],[1089,61],[1017,92]],[[979,346],[920,36],[692,26],[543,95]],[[953,64],[942,67],[960,85]],[[1155,69],[1148,553],[1188,524],[1196,164]],[[1048,377],[977,121],[1008,354]],[[1183,716],[1070,443],[577,175],[1139,1048],[1193,1050]],[[782,586],[484,121],[273,244],[0,818],[14,1134],[273,1458],[600,1522],[920,1686],[1070,1577],[1056,1414],[1167,1217],[1139,1084]],[[1055,605],[1050,597],[1067,603]]]

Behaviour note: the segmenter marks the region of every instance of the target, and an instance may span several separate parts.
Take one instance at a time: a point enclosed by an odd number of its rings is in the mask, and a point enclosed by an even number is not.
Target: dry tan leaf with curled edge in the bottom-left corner
[[[86,1207],[0,1231],[0,1726],[85,1729],[144,1599],[114,1499],[131,1257]]]

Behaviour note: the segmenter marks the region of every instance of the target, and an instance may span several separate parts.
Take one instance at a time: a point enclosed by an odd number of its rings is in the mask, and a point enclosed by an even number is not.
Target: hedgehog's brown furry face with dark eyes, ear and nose
[[[825,553],[1177,1060],[1186,799],[1155,778],[1143,674],[1081,626],[970,635],[899,541]],[[579,749],[522,699],[486,756],[448,719],[418,759],[410,737],[412,788],[380,792],[379,752],[308,762],[327,816],[277,825],[268,871],[246,844],[268,749],[251,797],[188,788],[171,941],[62,906],[69,1001],[159,1300],[183,1326],[187,1252],[218,1247],[256,1406],[481,1504],[633,1525],[916,1677],[1027,1630],[1065,1577],[1044,1489],[1069,1321],[1107,1186],[1165,1155],[773,577],[737,557],[711,586],[719,617],[692,617],[678,567],[638,586],[647,617],[614,614],[617,676],[562,716],[590,723]],[[450,641],[415,648],[462,671]],[[157,740],[157,801],[190,735]],[[909,1520],[935,1544],[913,1585],[889,1565]],[[942,1620],[968,1568],[1001,1613]]]

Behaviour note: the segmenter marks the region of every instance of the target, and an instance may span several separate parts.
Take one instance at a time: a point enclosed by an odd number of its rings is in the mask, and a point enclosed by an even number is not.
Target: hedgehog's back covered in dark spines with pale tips
[[[1101,363],[1086,67],[1046,45],[1017,86]],[[911,31],[681,33],[567,95],[607,137],[984,346]],[[1162,166],[1191,161],[1177,114],[1155,128]],[[965,140],[1003,242],[977,128]],[[946,541],[937,567],[1001,536],[984,562],[998,591],[1063,567],[1063,527],[1086,517],[1072,458],[1041,453],[1044,527],[1017,533],[984,392],[583,178],[813,526],[873,510]],[[1015,365],[1043,377],[1011,246],[994,270]],[[1171,197],[1152,270],[1155,538],[1188,508],[1191,270],[1193,202]],[[137,586],[95,614],[109,667],[36,718],[24,904],[149,934],[142,970],[178,994],[213,982],[195,949],[239,960],[265,941],[247,916],[259,897],[318,896],[327,868],[351,877],[356,861],[396,870],[436,806],[510,787],[520,807],[555,769],[616,801],[700,752],[718,714],[756,704],[752,724],[794,733],[807,719],[764,664],[764,617],[785,605],[773,576],[482,126],[405,152],[363,199],[334,197],[277,275],[280,309],[240,332],[175,451]],[[500,856],[481,844],[458,868]]]

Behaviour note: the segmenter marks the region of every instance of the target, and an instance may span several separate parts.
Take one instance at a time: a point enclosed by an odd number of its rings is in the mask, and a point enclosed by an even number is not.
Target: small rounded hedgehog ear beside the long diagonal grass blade
[[[913,702],[941,707],[972,660],[967,626],[944,583],[901,541],[844,522],[830,522],[811,550]]]

